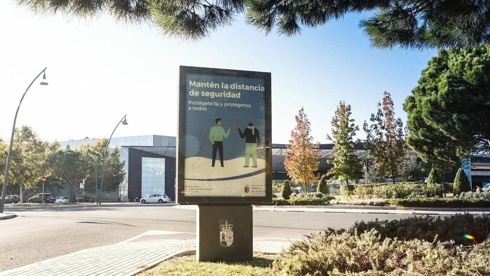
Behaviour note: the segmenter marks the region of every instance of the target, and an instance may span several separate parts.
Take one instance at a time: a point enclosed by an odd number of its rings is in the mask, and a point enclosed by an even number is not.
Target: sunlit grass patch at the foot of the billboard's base
[[[137,276],[268,276],[277,254],[254,253],[245,262],[196,262],[196,255],[172,257]]]

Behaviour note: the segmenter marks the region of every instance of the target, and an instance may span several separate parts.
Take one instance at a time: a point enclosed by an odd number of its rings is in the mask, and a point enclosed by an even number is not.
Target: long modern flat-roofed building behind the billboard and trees
[[[59,142],[62,147],[70,145],[72,148],[81,144],[93,143],[96,139],[80,139]],[[125,161],[125,176],[120,185],[119,198],[122,202],[139,201],[142,196],[151,193],[165,193],[171,201],[175,200],[176,179],[176,138],[161,135],[145,135],[112,138],[111,148],[121,147],[121,160]],[[327,160],[334,158],[334,144],[320,144],[321,160],[319,174],[326,173],[331,167]],[[286,144],[272,144],[272,179],[274,182],[283,182],[289,179],[284,168],[284,158],[289,149]],[[353,154],[363,160],[364,165],[369,163],[369,151],[365,150],[364,143],[356,144]],[[362,178],[362,172],[359,172]],[[455,171],[444,176],[445,182],[454,181]],[[473,187],[482,187],[490,182],[490,157],[471,158],[471,178]]]

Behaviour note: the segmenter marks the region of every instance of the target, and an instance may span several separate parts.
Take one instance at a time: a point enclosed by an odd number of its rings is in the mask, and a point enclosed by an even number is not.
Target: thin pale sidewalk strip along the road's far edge
[[[174,208],[196,210],[197,205],[175,205]],[[490,214],[490,208],[435,208],[435,207],[396,207],[396,206],[293,206],[256,205],[253,211],[262,212],[310,212],[310,213],[354,213],[354,214],[395,214],[395,215],[473,215]]]

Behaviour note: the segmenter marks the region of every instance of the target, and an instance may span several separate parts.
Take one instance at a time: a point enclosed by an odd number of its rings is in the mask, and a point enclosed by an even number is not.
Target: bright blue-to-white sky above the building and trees
[[[49,85],[33,85],[17,125],[50,141],[109,136],[126,113],[129,125],[117,137],[176,135],[179,65],[271,72],[273,143],[288,142],[301,107],[319,142],[327,142],[341,100],[362,126],[384,91],[405,120],[402,103],[437,52],[372,48],[357,27],[367,15],[350,14],[294,38],[266,36],[238,18],[207,39],[187,42],[164,37],[149,23],[39,17],[1,1],[0,137],[10,137],[19,99],[44,67]]]

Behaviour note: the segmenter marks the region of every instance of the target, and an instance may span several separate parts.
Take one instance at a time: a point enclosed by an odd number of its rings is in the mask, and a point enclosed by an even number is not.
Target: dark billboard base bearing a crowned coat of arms
[[[196,260],[252,258],[252,205],[197,205]]]

